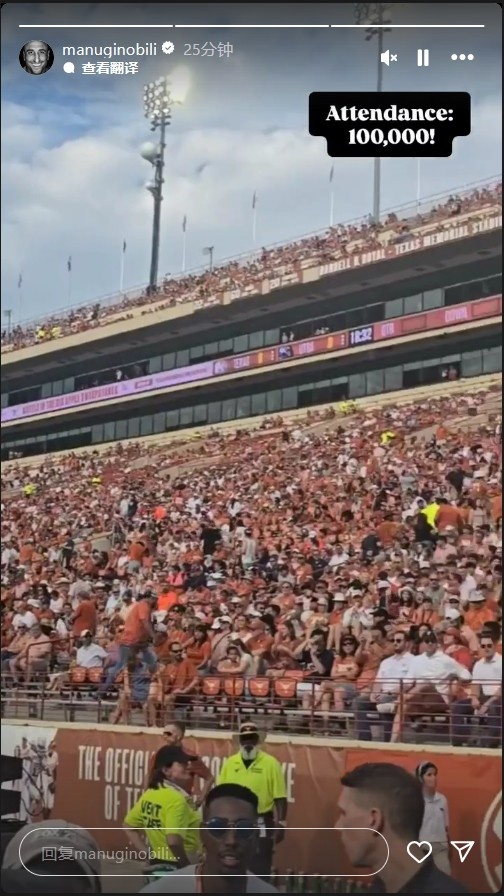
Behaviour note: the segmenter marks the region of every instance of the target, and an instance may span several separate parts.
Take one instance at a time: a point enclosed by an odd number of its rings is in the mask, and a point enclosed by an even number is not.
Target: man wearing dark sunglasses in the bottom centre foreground
[[[220,784],[203,807],[205,858],[149,884],[142,893],[278,893],[250,872],[259,842],[258,799],[247,787]]]

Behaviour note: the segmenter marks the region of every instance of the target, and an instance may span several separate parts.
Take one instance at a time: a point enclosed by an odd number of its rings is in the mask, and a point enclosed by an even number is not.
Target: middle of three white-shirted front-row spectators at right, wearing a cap
[[[440,649],[435,632],[427,632],[422,643],[424,652],[414,658],[411,669],[414,687],[404,698],[405,719],[445,715],[451,702],[452,682],[471,681],[469,670]],[[401,721],[396,717],[393,741],[394,735],[397,740],[400,734]]]

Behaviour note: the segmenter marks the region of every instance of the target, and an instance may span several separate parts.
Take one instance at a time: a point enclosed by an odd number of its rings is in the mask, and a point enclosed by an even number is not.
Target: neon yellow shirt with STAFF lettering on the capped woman
[[[166,842],[171,834],[178,834],[182,838],[186,852],[195,851],[194,809],[187,795],[178,788],[149,788],[130,809],[124,823],[132,828],[145,829],[144,834],[154,857],[160,861],[175,861]]]

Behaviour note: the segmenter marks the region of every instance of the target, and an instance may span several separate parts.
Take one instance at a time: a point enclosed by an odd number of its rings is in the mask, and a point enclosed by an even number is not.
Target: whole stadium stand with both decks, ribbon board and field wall
[[[337,782],[426,760],[452,872],[500,889],[501,213],[484,184],[3,334],[11,821],[124,847],[163,731],[218,780],[245,721],[280,889],[365,889]]]

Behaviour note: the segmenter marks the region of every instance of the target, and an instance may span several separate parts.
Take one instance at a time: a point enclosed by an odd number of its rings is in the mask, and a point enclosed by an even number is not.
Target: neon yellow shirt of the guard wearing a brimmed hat
[[[278,759],[259,750],[247,768],[241,753],[234,753],[222,765],[217,784],[241,784],[255,793],[259,800],[259,815],[271,812],[275,800],[287,799],[285,776]]]

